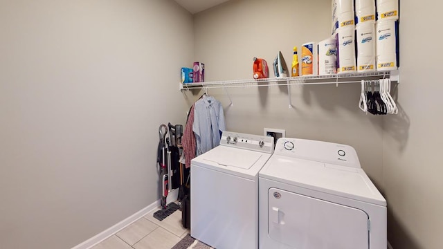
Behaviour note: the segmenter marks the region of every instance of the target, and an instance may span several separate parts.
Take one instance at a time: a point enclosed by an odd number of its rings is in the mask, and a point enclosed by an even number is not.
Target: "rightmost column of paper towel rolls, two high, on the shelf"
[[[377,0],[377,71],[397,69],[398,0]]]

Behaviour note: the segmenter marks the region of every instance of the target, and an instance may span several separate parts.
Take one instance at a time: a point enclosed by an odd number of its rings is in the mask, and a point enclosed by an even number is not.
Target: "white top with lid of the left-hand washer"
[[[191,166],[199,165],[228,174],[254,178],[270,156],[271,154],[248,149],[217,146],[192,159]]]

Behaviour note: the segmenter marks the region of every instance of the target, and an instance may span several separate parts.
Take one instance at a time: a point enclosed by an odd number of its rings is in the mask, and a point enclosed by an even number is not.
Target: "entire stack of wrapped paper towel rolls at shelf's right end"
[[[398,19],[399,0],[332,0],[337,73],[397,69]]]

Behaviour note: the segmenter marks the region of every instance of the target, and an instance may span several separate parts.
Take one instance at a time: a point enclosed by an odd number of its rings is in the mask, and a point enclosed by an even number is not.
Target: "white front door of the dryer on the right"
[[[298,249],[368,249],[368,214],[287,192],[268,191],[269,237]]]

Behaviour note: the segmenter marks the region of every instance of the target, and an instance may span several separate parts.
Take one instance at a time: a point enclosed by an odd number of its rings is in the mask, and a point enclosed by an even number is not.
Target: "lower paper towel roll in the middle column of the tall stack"
[[[357,71],[375,71],[375,24],[356,25]]]

